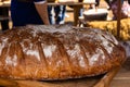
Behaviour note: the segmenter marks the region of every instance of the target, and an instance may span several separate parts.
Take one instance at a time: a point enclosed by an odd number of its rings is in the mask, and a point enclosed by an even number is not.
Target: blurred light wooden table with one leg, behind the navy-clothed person
[[[78,24],[78,17],[79,17],[79,10],[82,8],[83,4],[95,4],[95,2],[90,2],[90,3],[86,3],[86,2],[60,2],[60,3],[48,3],[48,5],[73,5],[74,8],[74,25],[77,26]],[[4,7],[4,8],[10,8],[11,4],[10,3],[2,3],[0,4],[0,8]]]

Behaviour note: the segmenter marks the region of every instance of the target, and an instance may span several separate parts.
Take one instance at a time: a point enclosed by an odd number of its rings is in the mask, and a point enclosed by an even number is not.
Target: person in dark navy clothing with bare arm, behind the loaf
[[[46,0],[12,0],[11,18],[13,26],[27,24],[49,25]]]

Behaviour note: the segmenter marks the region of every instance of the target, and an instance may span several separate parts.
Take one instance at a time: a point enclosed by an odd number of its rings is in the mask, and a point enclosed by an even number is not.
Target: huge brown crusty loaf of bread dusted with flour
[[[0,77],[68,79],[95,76],[123,63],[126,52],[107,32],[29,25],[0,34]]]

